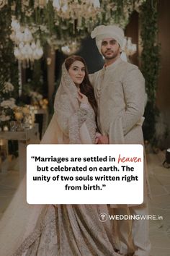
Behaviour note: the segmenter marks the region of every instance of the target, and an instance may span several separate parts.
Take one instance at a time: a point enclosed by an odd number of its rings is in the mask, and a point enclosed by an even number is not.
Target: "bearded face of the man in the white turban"
[[[104,38],[101,51],[104,59],[115,59],[120,55],[120,45],[114,38]]]

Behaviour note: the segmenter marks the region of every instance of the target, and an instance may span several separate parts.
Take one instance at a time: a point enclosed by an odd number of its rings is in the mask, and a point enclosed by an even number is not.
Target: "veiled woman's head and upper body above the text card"
[[[41,143],[94,143],[97,103],[85,61],[80,56],[68,57],[63,64],[54,108],[55,113]]]

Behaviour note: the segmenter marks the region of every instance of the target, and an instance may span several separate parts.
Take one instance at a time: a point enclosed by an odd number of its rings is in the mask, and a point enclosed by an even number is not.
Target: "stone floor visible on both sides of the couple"
[[[148,173],[152,200],[150,213],[163,220],[150,221],[152,256],[170,255],[170,168],[164,168],[164,152],[148,153]],[[0,172],[0,218],[19,185],[18,161],[6,163],[9,171]]]

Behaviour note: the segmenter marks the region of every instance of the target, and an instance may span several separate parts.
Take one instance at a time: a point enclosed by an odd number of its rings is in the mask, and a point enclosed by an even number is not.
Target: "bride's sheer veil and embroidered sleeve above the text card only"
[[[80,112],[77,97],[78,89],[63,64],[61,84],[55,95],[55,113],[42,138],[42,144],[94,143],[96,130],[94,111],[89,105],[81,108]],[[87,120],[84,119],[84,116],[87,117]]]

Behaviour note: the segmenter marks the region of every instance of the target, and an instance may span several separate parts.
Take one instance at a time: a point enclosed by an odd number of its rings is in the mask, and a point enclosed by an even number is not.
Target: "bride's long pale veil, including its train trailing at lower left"
[[[94,111],[91,106],[84,108],[84,115],[91,119],[89,124],[80,118],[77,88],[69,76],[65,64],[62,67],[61,84],[55,95],[55,113],[50,121],[47,131],[41,143],[45,144],[68,144],[82,143],[91,144],[95,137]],[[82,117],[81,116],[81,117]],[[81,119],[81,127],[80,127]],[[23,166],[26,168],[26,166]],[[26,177],[22,180],[12,202],[6,209],[0,221],[0,255],[13,255],[24,239],[32,234],[37,220],[47,206],[29,205],[26,202]]]

